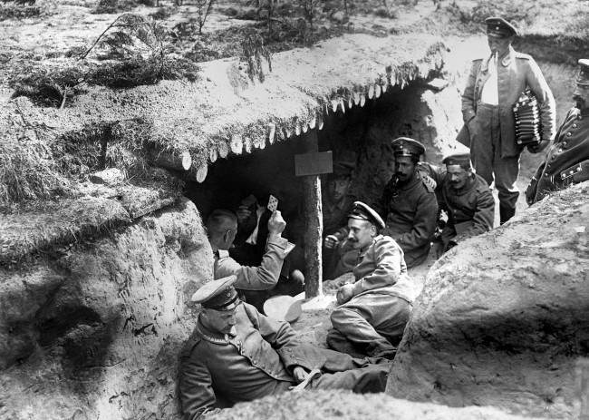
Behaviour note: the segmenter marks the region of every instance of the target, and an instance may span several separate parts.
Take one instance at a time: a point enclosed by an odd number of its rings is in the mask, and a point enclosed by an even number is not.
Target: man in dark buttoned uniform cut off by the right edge
[[[573,93],[576,106],[566,113],[554,144],[527,187],[528,205],[549,191],[589,180],[589,59],[579,60],[579,66]]]

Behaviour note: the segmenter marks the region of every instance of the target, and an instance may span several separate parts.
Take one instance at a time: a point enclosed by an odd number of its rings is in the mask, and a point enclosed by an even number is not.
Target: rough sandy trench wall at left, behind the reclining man
[[[212,277],[195,205],[33,261],[0,268],[0,418],[174,418],[188,298]]]

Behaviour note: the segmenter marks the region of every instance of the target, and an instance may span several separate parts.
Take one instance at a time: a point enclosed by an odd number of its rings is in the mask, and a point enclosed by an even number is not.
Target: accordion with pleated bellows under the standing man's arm
[[[513,105],[518,146],[537,146],[542,140],[540,109],[534,93],[526,89]]]

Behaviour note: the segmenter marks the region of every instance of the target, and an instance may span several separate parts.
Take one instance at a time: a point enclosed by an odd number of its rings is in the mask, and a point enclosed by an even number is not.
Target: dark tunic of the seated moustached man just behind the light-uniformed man
[[[389,235],[403,249],[407,267],[415,267],[428,258],[430,242],[436,230],[438,200],[435,190],[421,178],[420,173],[406,185],[394,179],[384,188],[377,206]]]

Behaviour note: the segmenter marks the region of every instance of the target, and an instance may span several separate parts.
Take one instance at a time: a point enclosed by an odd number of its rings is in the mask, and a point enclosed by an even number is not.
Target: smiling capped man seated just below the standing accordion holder
[[[461,240],[479,235],[493,228],[495,200],[487,181],[478,176],[470,164],[470,154],[456,153],[442,161],[446,170],[422,164],[437,182],[439,207],[448,213],[436,244],[439,257]]]

